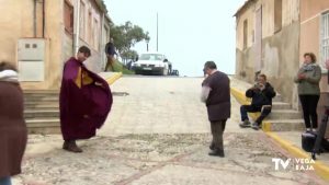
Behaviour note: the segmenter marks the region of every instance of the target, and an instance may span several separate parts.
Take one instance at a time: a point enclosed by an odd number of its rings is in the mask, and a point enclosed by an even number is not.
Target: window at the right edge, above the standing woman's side
[[[321,15],[321,62],[329,60],[329,12]]]

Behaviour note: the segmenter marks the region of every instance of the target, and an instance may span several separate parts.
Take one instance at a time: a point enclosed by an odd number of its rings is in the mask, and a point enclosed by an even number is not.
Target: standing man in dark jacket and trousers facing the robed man
[[[225,73],[217,71],[214,61],[204,65],[204,73],[207,78],[202,83],[201,100],[206,104],[212,127],[213,141],[209,155],[224,158],[223,132],[226,120],[230,117],[229,79]]]

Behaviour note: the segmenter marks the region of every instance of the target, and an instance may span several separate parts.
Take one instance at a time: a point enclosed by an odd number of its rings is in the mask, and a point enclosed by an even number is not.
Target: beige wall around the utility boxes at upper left
[[[7,1],[0,0],[0,60],[8,60],[18,65],[18,41],[20,38],[34,37],[33,26],[33,1]],[[55,79],[58,79],[58,61],[61,59],[61,25],[63,5],[58,1],[46,1],[46,57],[45,57],[45,81],[22,82],[23,89],[54,89]],[[42,36],[42,3],[37,3],[37,32]],[[48,70],[52,69],[52,70]],[[50,72],[52,71],[52,72]]]

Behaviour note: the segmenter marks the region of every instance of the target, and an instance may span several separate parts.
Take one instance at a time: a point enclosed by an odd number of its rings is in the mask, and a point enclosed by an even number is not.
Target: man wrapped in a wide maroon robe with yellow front
[[[63,149],[71,152],[82,152],[76,140],[95,136],[113,102],[107,82],[82,63],[88,57],[90,49],[82,46],[64,66],[59,94],[60,128],[65,140]]]

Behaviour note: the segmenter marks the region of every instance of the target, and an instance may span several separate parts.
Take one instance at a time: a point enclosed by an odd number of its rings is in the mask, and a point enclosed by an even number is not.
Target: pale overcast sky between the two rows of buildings
[[[245,0],[105,0],[117,25],[131,21],[150,34],[150,50],[167,55],[180,74],[202,76],[203,65],[214,60],[220,71],[235,72],[236,22],[234,13]],[[146,43],[134,49],[146,51]]]

